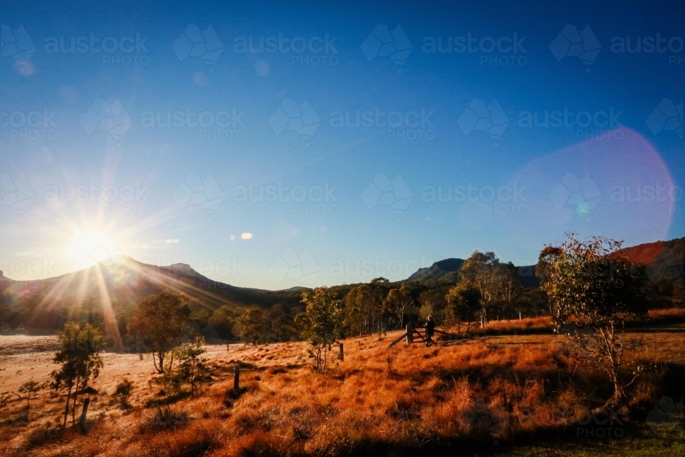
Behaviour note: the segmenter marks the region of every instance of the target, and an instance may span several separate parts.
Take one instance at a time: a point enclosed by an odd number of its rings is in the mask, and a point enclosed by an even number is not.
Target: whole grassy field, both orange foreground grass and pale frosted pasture
[[[1,410],[0,454],[685,455],[682,414],[659,429],[645,421],[664,395],[677,404],[685,391],[685,323],[675,320],[678,312],[662,314],[627,330],[636,345],[628,362],[651,369],[630,386],[617,415],[601,411],[611,396],[605,373],[576,358],[564,337],[545,332],[544,319],[500,321],[437,347],[388,349],[401,332],[348,338],[345,361],[325,374],[312,370],[306,343],[208,347],[194,398],[164,395],[149,355],[105,353],[92,383],[99,393],[91,396],[88,434],[60,430],[63,396],[40,393],[29,421],[26,402],[12,397]],[[55,367],[49,338],[11,338],[0,341],[1,390],[47,380]],[[123,378],[134,382],[128,408],[112,395]]]

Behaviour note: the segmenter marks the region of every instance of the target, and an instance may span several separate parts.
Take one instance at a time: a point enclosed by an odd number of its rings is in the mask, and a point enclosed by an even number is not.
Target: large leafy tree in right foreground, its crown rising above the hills
[[[579,240],[567,232],[560,246],[545,247],[538,260],[557,332],[571,316],[591,329],[571,336],[580,351],[606,369],[619,402],[627,385],[620,379],[623,323],[626,317],[647,317],[645,269],[623,258],[620,249],[621,241],[605,236]]]

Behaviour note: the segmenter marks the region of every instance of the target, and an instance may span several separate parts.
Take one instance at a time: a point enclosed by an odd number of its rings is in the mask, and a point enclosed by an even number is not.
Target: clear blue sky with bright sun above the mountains
[[[3,2],[5,275],[277,289],[685,235],[682,2],[286,3]]]

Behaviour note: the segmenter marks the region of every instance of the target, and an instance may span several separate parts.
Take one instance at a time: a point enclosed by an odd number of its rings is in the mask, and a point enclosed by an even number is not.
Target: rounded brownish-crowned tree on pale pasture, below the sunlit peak
[[[129,331],[140,336],[151,349],[158,373],[164,373],[164,357],[178,345],[178,336],[188,325],[190,312],[188,298],[169,291],[147,297],[136,308]]]

